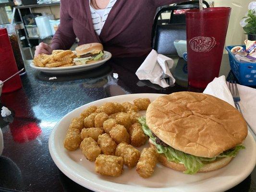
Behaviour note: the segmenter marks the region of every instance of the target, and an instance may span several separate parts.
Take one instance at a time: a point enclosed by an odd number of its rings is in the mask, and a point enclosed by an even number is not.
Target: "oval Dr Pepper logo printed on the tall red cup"
[[[189,45],[195,52],[207,52],[216,45],[216,40],[213,36],[196,36],[189,40]]]

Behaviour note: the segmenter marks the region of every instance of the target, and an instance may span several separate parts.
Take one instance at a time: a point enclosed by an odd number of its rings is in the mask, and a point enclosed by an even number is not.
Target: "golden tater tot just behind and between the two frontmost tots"
[[[125,142],[122,142],[117,145],[115,155],[121,156],[124,165],[126,165],[129,168],[133,168],[140,158],[139,150]]]

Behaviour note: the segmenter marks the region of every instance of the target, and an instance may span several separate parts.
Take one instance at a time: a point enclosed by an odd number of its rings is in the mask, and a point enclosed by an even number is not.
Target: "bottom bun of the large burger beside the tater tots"
[[[153,144],[149,143],[151,146],[154,146]],[[230,163],[230,161],[232,160],[233,157],[223,157],[223,158],[219,158],[217,161],[214,161],[212,163],[208,163],[205,164],[204,167],[200,168],[199,171],[197,172],[209,172],[209,171],[213,171],[213,170],[217,170],[219,168],[223,168],[226,165],[228,165]],[[159,154],[158,155],[158,161],[168,167],[168,168],[172,168],[175,169],[177,171],[185,171],[186,168],[183,164],[180,163],[175,163],[173,161],[168,161],[166,156],[164,154]]]

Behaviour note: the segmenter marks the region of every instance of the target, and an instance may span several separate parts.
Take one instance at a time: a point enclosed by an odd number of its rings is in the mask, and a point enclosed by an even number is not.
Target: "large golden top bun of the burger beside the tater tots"
[[[247,136],[246,122],[238,110],[202,93],[159,96],[146,110],[146,124],[174,149],[209,158],[241,144]]]

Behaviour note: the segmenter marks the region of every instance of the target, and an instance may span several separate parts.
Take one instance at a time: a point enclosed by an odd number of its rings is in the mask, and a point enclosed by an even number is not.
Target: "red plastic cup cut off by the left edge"
[[[8,77],[18,72],[12,46],[6,28],[0,28],[0,80],[4,81]],[[2,93],[16,91],[22,87],[21,78],[16,75],[3,84]]]

